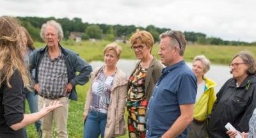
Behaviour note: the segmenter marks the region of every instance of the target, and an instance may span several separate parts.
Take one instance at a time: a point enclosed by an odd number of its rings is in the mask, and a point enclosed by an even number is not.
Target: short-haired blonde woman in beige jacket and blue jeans
[[[125,134],[124,107],[127,77],[116,67],[122,47],[116,43],[104,49],[105,65],[91,75],[84,105],[84,138],[117,137]]]

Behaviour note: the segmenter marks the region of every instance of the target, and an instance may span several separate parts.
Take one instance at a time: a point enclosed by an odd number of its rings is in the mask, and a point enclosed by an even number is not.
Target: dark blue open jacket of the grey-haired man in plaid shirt
[[[89,81],[90,73],[92,72],[92,66],[81,59],[81,57],[79,57],[75,52],[65,49],[61,47],[61,45],[60,48],[61,52],[64,54],[65,64],[67,66],[68,82],[70,82],[70,84],[73,86],[69,98],[71,100],[77,100],[75,86],[76,84],[86,84],[86,82]],[[29,68],[30,70],[35,68],[35,83],[38,83],[38,68],[42,58],[44,57],[45,50],[48,50],[47,46],[38,50],[34,50],[29,56]],[[79,75],[76,75],[76,72],[80,72]]]

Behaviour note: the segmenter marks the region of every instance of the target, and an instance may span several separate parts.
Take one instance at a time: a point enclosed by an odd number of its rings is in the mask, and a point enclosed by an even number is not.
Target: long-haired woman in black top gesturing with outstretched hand
[[[24,114],[22,89],[29,86],[24,66],[20,24],[12,17],[0,17],[0,137],[26,137],[22,128],[35,123],[62,106],[54,102],[40,112]]]

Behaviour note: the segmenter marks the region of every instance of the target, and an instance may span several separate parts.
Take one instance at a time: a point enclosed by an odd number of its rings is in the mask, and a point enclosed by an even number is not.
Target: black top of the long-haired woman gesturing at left
[[[23,138],[24,130],[12,130],[10,126],[19,123],[24,118],[24,94],[22,94],[23,81],[17,70],[10,78],[12,88],[6,83],[0,88],[0,137]]]

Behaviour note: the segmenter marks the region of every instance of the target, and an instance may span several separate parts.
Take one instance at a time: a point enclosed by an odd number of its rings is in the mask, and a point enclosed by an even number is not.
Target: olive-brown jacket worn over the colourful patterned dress
[[[139,61],[136,64],[134,70],[132,70],[132,73],[135,72],[137,66],[139,66],[140,63],[141,61]],[[147,102],[149,101],[149,98],[152,95],[156,82],[158,81],[159,77],[162,74],[162,70],[163,70],[163,65],[161,65],[161,63],[159,63],[159,61],[157,61],[157,59],[154,57],[154,59],[152,59],[150,65],[148,66],[147,76],[145,78],[145,97]]]

